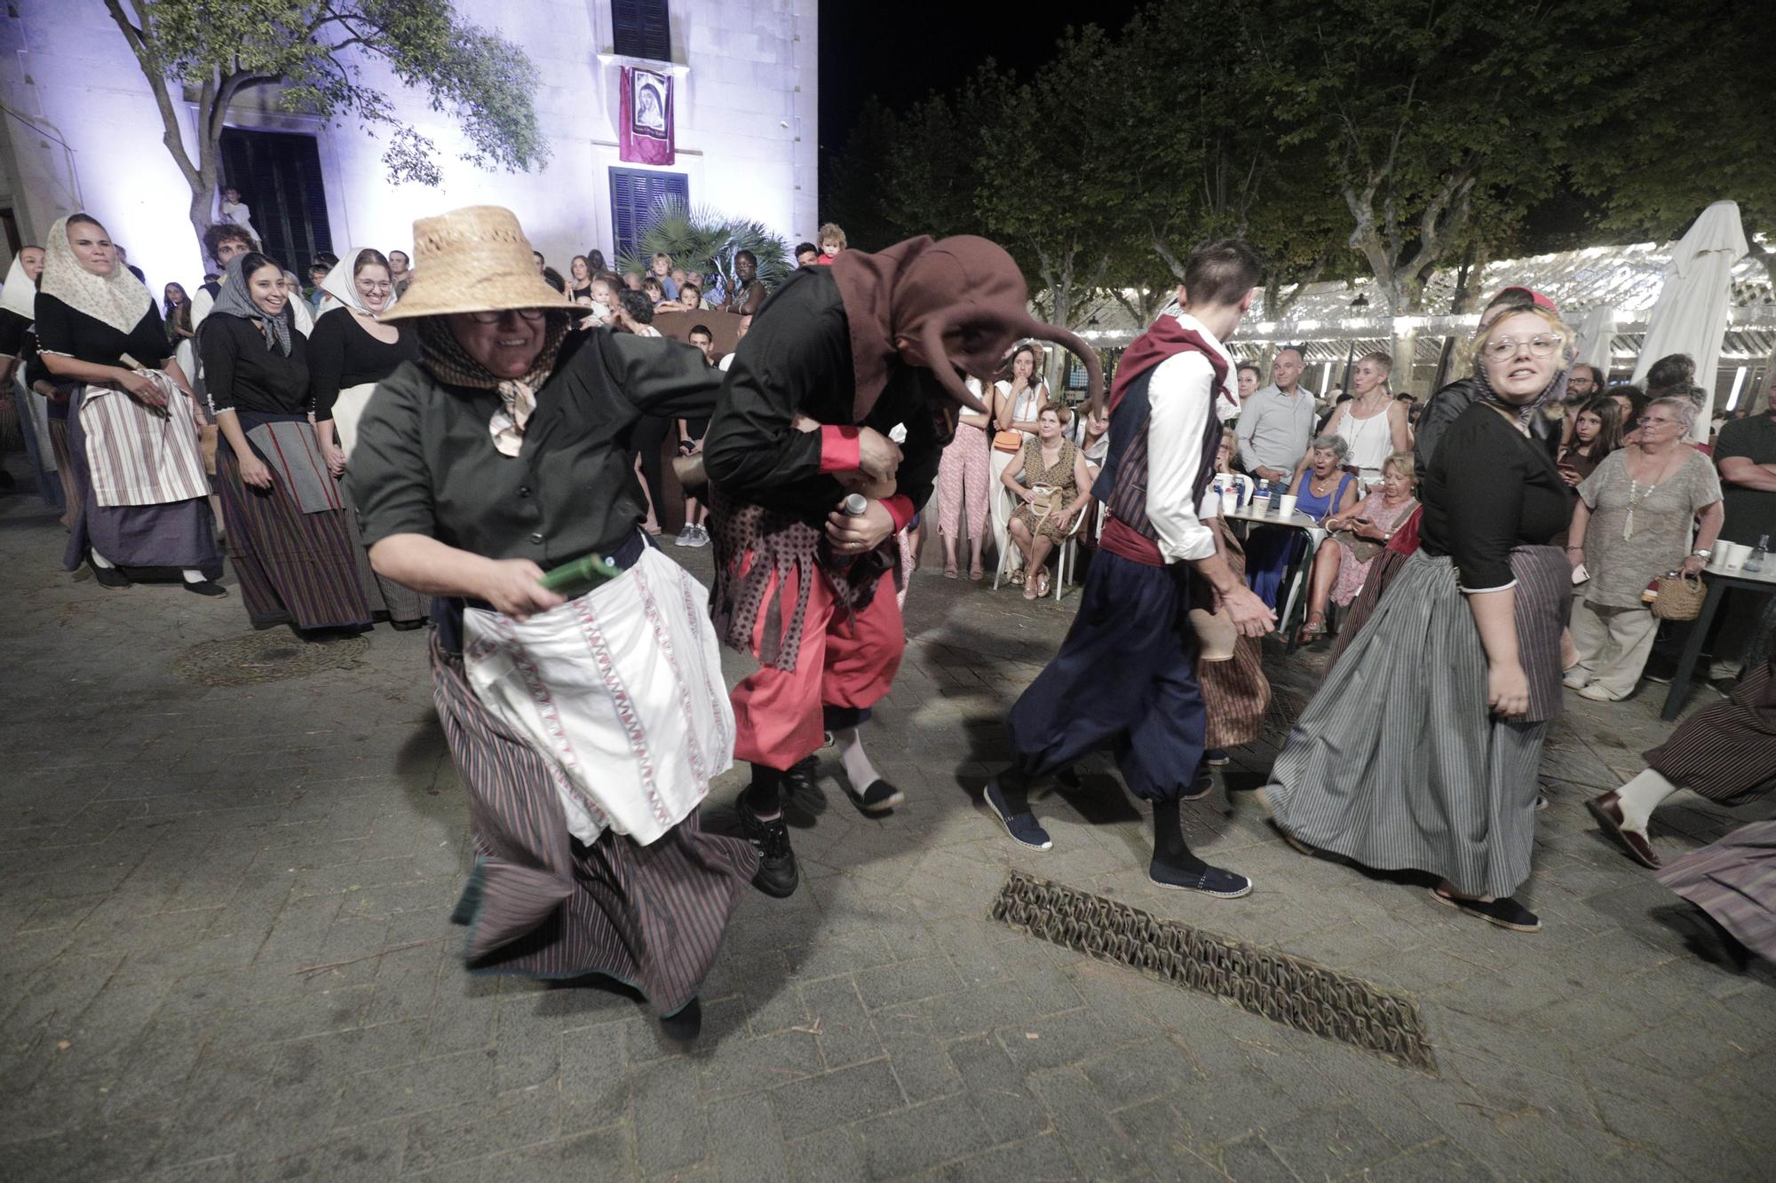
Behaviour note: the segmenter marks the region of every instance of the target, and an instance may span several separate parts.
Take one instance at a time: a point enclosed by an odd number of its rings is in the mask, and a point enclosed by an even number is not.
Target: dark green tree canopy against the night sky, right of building
[[[1028,78],[989,62],[913,110],[872,107],[828,206],[877,245],[989,234],[1062,323],[1106,298],[1151,318],[1190,249],[1227,234],[1268,261],[1266,316],[1305,282],[1362,272],[1375,311],[1410,313],[1437,266],[1518,249],[1563,187],[1659,234],[1719,195],[1748,229],[1776,218],[1756,85],[1772,14],[1737,0],[1154,0],[1115,34],[1069,30]]]

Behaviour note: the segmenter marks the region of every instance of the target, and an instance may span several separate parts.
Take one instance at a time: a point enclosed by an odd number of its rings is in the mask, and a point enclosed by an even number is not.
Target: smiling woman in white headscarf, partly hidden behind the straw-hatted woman
[[[327,469],[339,478],[357,442],[357,421],[377,384],[403,361],[419,361],[419,337],[412,327],[378,320],[396,302],[389,261],[380,250],[348,254],[321,282],[321,291],[337,304],[314,322],[314,336],[309,339],[309,398]],[[355,538],[357,513],[345,485],[339,485],[339,494],[346,501],[346,528]],[[424,623],[424,597],[375,574],[368,558],[359,563],[359,579],[373,615],[387,613],[389,623],[401,631]]]

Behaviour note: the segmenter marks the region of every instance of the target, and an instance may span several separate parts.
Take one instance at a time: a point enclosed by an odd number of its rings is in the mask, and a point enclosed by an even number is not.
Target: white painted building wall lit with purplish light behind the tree
[[[607,0],[458,0],[458,11],[531,55],[538,115],[554,155],[540,174],[481,172],[456,160],[448,115],[387,71],[366,78],[440,146],[444,183],[391,185],[384,144],[355,123],[238,110],[231,123],[307,131],[320,142],[334,250],[407,249],[416,217],[490,202],[517,213],[561,272],[590,247],[611,254],[607,169],[616,158],[618,66]],[[790,245],[819,226],[817,0],[671,0],[678,158],[691,201],[757,217]],[[151,282],[188,288],[204,263],[186,220],[188,190],[162,144],[153,96],[101,0],[48,0],[0,16],[0,112],[14,210],[27,238],[85,208],[130,249]],[[188,124],[188,112],[181,112]],[[186,135],[190,133],[186,126]],[[59,142],[60,140],[60,142]],[[62,144],[66,142],[66,146]],[[252,204],[250,194],[247,202]],[[286,259],[300,270],[302,259]]]

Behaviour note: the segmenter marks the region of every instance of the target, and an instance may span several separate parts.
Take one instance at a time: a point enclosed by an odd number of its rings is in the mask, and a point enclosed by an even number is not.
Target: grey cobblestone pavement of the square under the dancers
[[[908,805],[860,817],[828,762],[803,886],[746,899],[684,1052],[629,996],[462,972],[467,821],[423,634],[195,684],[176,659],[243,636],[240,600],[71,579],[23,501],[0,501],[11,1178],[1769,1178],[1776,977],[1700,956],[1581,808],[1664,734],[1655,695],[1572,698],[1554,728],[1540,936],[1291,853],[1243,792],[1268,748],[1236,755],[1231,806],[1186,814],[1257,890],[1183,897],[1146,881],[1106,766],[1039,801],[1051,853],[982,814],[1003,711],[1076,599],[922,572],[870,734]],[[1270,655],[1288,700],[1320,661]],[[1748,817],[1685,796],[1655,840]],[[1009,869],[1403,991],[1437,1069],[995,925]]]

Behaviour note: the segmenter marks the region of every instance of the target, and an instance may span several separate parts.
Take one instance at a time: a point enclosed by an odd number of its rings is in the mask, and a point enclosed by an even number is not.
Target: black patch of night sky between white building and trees
[[[876,94],[906,108],[948,91],[984,59],[1027,76],[1050,57],[1069,23],[1117,30],[1137,0],[1099,0],[1071,16],[1057,5],[979,0],[826,0],[821,4],[821,155],[844,147],[863,101]]]

